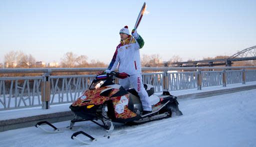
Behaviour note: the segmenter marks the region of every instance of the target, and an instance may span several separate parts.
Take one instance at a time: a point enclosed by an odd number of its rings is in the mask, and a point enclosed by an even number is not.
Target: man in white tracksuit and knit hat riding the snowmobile
[[[140,68],[140,55],[139,49],[143,47],[144,41],[136,30],[132,30],[131,34],[134,36],[131,42],[131,35],[129,34],[128,26],[124,26],[120,29],[120,44],[117,45],[113,58],[105,72],[110,73],[115,70],[117,64],[118,71],[120,73],[125,72],[130,75],[125,79],[119,79],[119,84],[125,90],[129,89],[130,84],[137,91],[140,101],[142,103],[143,115],[152,111],[151,104],[149,102],[148,95],[143,87],[141,79]]]

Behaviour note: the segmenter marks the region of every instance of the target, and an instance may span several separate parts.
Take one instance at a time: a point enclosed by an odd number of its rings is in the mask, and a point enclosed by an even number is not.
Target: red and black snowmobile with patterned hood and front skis
[[[121,85],[114,84],[115,78],[124,79],[129,75],[126,73],[110,72],[109,74],[96,75],[88,90],[79,96],[69,108],[74,113],[74,119],[70,125],[64,129],[72,129],[75,122],[91,121],[104,128],[106,134],[103,138],[109,139],[114,126],[112,122],[127,125],[137,125],[154,120],[169,118],[172,114],[182,115],[178,109],[178,102],[175,96],[164,91],[161,95],[154,94],[154,87],[144,84],[144,88],[149,96],[152,112],[144,114],[137,92],[134,89],[125,90]],[[102,125],[97,123],[101,120]],[[47,124],[55,132],[62,132],[48,122],[39,122],[35,126],[43,129],[40,125]],[[49,132],[43,129],[46,132]],[[84,135],[89,138],[89,142],[78,139],[77,135]],[[86,134],[83,131],[75,132],[71,139],[76,139],[84,144],[90,144],[98,139]]]

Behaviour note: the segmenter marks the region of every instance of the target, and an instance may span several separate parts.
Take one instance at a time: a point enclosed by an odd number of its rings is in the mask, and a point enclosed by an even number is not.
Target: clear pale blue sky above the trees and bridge
[[[0,0],[0,63],[10,51],[46,63],[71,51],[108,64],[144,1],[140,55],[200,60],[256,45],[256,0]]]

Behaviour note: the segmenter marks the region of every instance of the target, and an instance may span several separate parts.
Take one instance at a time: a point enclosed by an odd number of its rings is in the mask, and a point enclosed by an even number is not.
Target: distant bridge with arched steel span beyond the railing
[[[246,61],[246,60],[256,60],[256,45],[238,51],[232,56],[226,59],[212,59],[212,60],[198,60],[198,61],[186,61],[186,62],[174,62],[171,63],[174,67],[201,67],[201,66],[231,66],[235,61]],[[167,63],[164,64],[167,66]]]

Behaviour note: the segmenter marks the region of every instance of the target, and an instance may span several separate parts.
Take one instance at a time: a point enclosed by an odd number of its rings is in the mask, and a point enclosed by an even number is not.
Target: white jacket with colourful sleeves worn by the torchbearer
[[[139,49],[143,47],[144,41],[138,35],[138,38],[132,39],[130,42],[130,35],[116,47],[113,58],[107,70],[115,70],[117,64],[120,73],[125,72],[129,75],[141,73]]]

